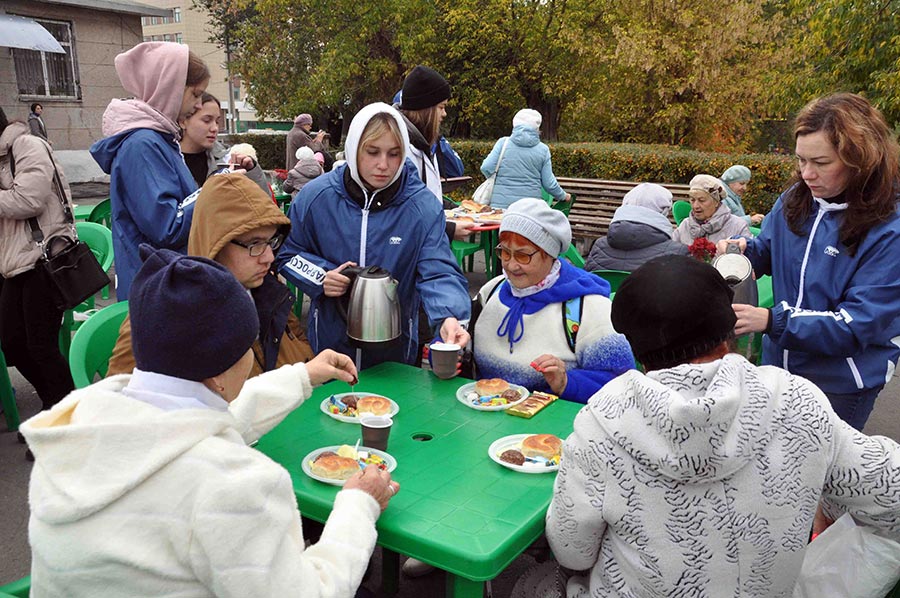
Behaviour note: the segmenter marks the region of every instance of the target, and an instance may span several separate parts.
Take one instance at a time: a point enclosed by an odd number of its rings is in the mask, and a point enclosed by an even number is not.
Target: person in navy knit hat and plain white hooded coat
[[[31,596],[353,596],[399,485],[375,467],[356,473],[306,548],[290,475],[246,444],[314,385],[354,383],[352,362],[325,351],[245,384],[259,329],[247,291],[212,260],[141,254],[134,373],[21,428],[36,457]]]

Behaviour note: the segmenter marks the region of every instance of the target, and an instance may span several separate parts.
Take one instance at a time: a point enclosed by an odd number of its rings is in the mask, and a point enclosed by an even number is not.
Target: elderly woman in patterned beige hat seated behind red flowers
[[[747,222],[731,213],[724,203],[726,192],[722,181],[709,174],[691,179],[691,215],[681,221],[672,238],[691,245],[704,237],[715,243],[722,239],[750,237]]]

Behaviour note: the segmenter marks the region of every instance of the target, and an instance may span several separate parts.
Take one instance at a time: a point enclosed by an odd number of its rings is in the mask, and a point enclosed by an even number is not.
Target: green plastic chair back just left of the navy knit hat
[[[106,376],[119,327],[126,315],[127,301],[113,303],[88,318],[75,333],[69,349],[69,369],[76,388],[92,384],[97,374],[101,378]]]

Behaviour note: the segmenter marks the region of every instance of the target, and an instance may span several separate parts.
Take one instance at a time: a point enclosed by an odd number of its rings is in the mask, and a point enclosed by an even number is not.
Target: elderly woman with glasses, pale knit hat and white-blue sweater
[[[509,206],[497,247],[503,275],[481,288],[473,309],[478,377],[586,403],[634,367],[610,322],[609,284],[558,257],[571,240],[565,215],[545,201]]]

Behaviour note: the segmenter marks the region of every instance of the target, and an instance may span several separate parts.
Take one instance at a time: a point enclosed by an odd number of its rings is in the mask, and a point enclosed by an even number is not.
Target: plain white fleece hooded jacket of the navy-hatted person
[[[248,380],[227,412],[163,411],[123,395],[129,379],[77,390],[22,425],[36,458],[33,597],[353,596],[378,503],[339,492],[304,550],[288,472],[245,445],[309,397],[305,365]]]

